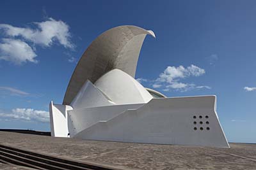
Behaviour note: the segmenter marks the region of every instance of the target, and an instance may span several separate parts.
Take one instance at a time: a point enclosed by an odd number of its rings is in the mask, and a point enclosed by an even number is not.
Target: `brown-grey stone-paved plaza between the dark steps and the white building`
[[[136,169],[256,169],[256,145],[151,145],[0,132],[0,143],[67,159]]]

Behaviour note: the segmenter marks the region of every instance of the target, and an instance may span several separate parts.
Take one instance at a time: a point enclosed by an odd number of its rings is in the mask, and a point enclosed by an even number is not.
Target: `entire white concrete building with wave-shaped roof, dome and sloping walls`
[[[145,39],[131,25],[101,34],[84,52],[63,104],[50,103],[51,135],[79,139],[229,147],[216,96],[166,97],[134,79]]]

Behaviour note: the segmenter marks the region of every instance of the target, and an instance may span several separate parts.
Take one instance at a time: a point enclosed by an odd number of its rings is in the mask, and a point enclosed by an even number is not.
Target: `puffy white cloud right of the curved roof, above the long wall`
[[[180,79],[185,79],[190,76],[202,76],[203,74],[205,74],[205,70],[193,64],[188,67],[168,66],[163,73],[159,74],[159,77],[155,80],[154,85],[164,86],[164,91],[175,89],[181,92],[185,92],[187,90],[195,89],[196,85],[194,83],[180,82]],[[196,88],[211,89],[211,87],[208,86],[197,86]]]

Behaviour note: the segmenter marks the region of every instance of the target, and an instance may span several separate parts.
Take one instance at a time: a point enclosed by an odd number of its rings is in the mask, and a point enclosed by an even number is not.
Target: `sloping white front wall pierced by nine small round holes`
[[[138,110],[98,122],[74,138],[229,147],[216,116],[215,102],[215,96],[152,99]]]

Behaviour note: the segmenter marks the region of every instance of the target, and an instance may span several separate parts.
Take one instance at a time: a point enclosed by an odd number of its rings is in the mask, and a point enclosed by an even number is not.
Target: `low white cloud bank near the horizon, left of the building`
[[[49,122],[49,112],[31,108],[15,108],[11,113],[0,112],[0,117],[28,122]]]

